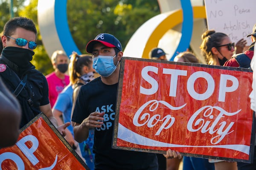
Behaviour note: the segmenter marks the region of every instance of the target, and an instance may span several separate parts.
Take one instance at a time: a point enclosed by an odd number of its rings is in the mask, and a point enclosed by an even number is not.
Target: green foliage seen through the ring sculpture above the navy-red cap
[[[79,50],[96,35],[115,35],[123,49],[145,21],[160,14],[157,0],[67,0],[70,32]]]

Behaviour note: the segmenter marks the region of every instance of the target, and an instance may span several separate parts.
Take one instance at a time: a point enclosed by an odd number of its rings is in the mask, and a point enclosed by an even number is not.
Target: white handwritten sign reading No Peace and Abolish
[[[244,38],[247,45],[252,43],[246,36],[253,32],[256,23],[256,0],[204,0],[204,3],[208,29],[227,34],[233,42]]]

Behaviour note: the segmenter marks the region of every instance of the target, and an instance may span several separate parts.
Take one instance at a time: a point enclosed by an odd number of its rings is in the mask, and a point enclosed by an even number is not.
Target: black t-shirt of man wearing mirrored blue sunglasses
[[[0,64],[5,64],[0,61]],[[20,128],[26,125],[30,120],[32,120],[38,113],[40,113],[39,106],[49,104],[49,93],[48,84],[44,75],[38,70],[31,67],[27,72],[26,86],[23,88],[22,92],[17,96],[22,110],[22,117],[20,122]],[[14,92],[17,88],[17,84],[23,79],[15,75],[15,72],[11,69],[9,65],[6,66],[6,70],[0,72],[0,77],[3,79],[6,87],[9,88],[11,92]],[[16,83],[14,83],[16,82]],[[29,106],[27,99],[32,100],[32,108]]]

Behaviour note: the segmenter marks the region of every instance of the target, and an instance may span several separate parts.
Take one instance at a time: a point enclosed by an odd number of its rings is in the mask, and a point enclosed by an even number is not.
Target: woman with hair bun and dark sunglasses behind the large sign
[[[220,65],[233,56],[235,44],[231,42],[227,34],[207,30],[201,36],[203,42],[200,45],[201,52],[209,65]],[[209,159],[214,163],[215,170],[237,170],[237,163],[224,160]]]

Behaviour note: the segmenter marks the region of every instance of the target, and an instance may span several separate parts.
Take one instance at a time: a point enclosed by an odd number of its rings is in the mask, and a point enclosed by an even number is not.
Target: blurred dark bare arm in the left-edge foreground
[[[0,79],[0,147],[9,147],[17,142],[21,119],[20,104]]]

